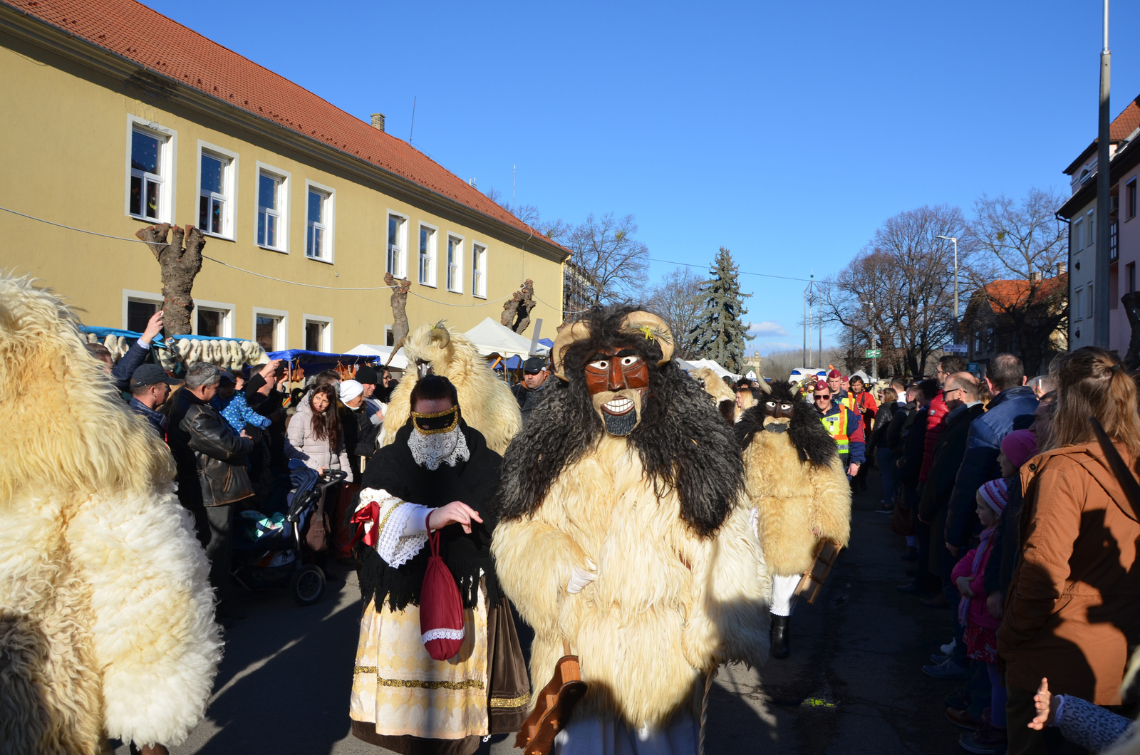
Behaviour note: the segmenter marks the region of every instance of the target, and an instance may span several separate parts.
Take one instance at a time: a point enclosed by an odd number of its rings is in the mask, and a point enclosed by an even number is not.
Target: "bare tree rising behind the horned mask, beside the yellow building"
[[[634,238],[632,214],[594,213],[570,234],[568,243],[578,268],[581,299],[589,307],[628,301],[641,293],[649,274],[649,246]]]

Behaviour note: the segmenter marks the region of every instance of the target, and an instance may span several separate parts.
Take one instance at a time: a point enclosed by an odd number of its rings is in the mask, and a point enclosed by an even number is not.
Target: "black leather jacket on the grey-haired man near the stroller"
[[[220,506],[253,495],[245,470],[253,441],[235,435],[217,409],[186,388],[174,395],[166,443],[178,468],[178,500],[187,509]]]

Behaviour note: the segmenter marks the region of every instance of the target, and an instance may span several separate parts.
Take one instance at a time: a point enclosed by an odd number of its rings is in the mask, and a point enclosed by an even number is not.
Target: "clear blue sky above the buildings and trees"
[[[1101,3],[148,5],[544,217],[633,213],[657,259],[841,269],[886,218],[1067,189],[1096,136]],[[1113,115],[1140,10],[1112,13]],[[656,277],[670,266],[653,263]],[[801,342],[803,285],[743,276],[750,348]]]

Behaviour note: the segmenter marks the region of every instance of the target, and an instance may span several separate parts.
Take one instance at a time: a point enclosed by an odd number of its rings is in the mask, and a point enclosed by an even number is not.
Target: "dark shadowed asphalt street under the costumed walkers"
[[[873,490],[873,472],[870,482]],[[722,668],[708,752],[960,752],[960,731],[940,705],[953,683],[919,671],[948,639],[950,612],[921,608],[895,591],[904,581],[901,538],[873,511],[876,498],[858,497],[852,549],[820,601],[798,607],[791,658],[758,671]],[[206,720],[172,753],[377,753],[348,733],[359,611],[352,575],[310,608],[283,593],[255,596],[250,617],[227,635]],[[481,752],[519,752],[497,739]]]

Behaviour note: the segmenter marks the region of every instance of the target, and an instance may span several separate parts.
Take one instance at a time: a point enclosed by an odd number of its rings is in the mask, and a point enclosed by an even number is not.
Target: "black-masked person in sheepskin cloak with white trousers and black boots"
[[[785,380],[744,412],[736,437],[744,450],[744,489],[772,574],[772,657],[787,658],[796,586],[815,562],[820,541],[846,547],[852,494],[836,441],[820,414]]]

